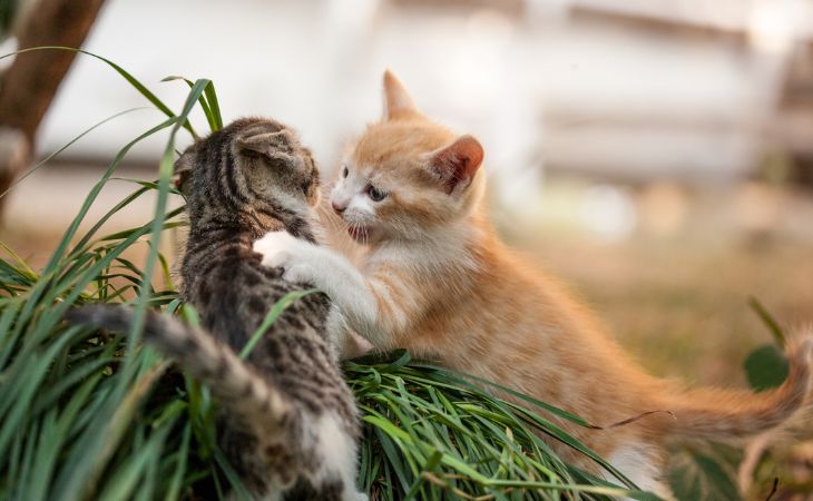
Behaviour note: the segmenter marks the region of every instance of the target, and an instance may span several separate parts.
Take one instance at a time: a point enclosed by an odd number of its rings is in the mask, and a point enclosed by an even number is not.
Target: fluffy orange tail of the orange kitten
[[[810,404],[813,332],[788,340],[791,370],[773,391],[695,390],[673,397],[667,434],[687,439],[738,439],[776,428]]]

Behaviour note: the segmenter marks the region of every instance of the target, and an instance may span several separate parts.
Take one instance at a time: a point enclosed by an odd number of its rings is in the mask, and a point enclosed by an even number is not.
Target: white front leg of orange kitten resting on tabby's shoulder
[[[349,324],[374,346],[388,348],[391,334],[403,328],[405,312],[380,307],[378,284],[368,281],[344,256],[310,242],[293,237],[287,232],[272,232],[254,243],[254,250],[263,255],[263,265],[282,266],[290,282],[311,283],[330,296]]]

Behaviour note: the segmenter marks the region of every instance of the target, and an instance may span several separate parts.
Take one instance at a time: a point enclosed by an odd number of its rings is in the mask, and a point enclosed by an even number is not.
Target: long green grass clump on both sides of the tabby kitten
[[[159,242],[183,225],[183,208],[167,210],[176,135],[182,129],[196,135],[188,121],[195,106],[210,130],[222,127],[217,96],[209,80],[185,80],[189,94],[175,114],[124,69],[99,59],[167,118],[114,157],[42,269],[30,268],[8,248],[0,258],[0,499],[219,500],[227,491],[244,499],[216,444],[216,402],[139,343],[147,308],[189,313],[170,285]],[[129,149],[161,132],[167,141],[157,180],[134,181],[131,195],[79,234]],[[148,191],[157,194],[156,207],[143,225],[99,234],[110,217]],[[123,257],[141,243],[148,244],[143,265]],[[153,284],[156,269],[167,285]],[[61,320],[70,307],[111,302],[135,306],[129,333]],[[185,316],[194,322],[194,315]],[[374,500],[656,499],[549,419],[586,425],[577,416],[530,399],[526,406],[515,405],[488,385],[411,361],[404,352],[351,361],[344,369],[364,423],[359,484]],[[589,456],[615,479],[565,463],[540,435]]]

